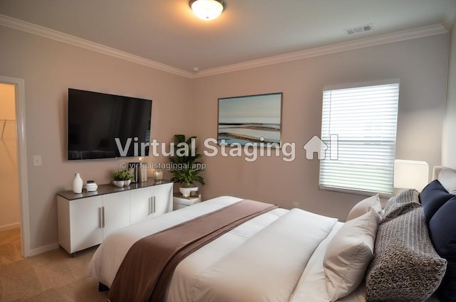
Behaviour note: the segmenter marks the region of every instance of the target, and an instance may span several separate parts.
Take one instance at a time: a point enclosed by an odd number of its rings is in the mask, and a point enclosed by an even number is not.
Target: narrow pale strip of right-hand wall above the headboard
[[[442,165],[456,169],[456,25],[450,35],[447,109],[442,137]]]

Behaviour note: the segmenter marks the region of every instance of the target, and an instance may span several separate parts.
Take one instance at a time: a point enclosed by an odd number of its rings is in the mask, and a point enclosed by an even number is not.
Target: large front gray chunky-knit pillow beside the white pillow
[[[366,301],[425,301],[446,266],[432,246],[422,207],[382,221],[366,274]]]

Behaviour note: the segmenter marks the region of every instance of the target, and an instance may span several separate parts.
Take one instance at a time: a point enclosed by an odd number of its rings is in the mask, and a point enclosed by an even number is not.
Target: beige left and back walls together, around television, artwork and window
[[[1,74],[25,80],[32,249],[57,242],[56,192],[71,188],[74,173],[106,183],[120,163],[66,161],[68,87],[153,99],[152,136],[170,141],[183,132],[200,142],[217,136],[218,97],[284,92],[282,140],[296,143],[296,160],[204,158],[204,199],[238,195],[346,217],[362,197],[318,190],[318,162],[304,160],[302,149],[320,133],[325,85],[400,78],[398,158],[440,163],[445,34],[194,80],[1,26],[0,40]],[[33,155],[43,166],[33,166]]]

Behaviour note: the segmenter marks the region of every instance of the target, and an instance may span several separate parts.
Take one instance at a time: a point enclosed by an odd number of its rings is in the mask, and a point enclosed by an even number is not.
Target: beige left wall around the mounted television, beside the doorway
[[[31,249],[36,249],[57,242],[56,193],[71,189],[74,173],[108,183],[120,163],[66,161],[68,87],[152,99],[152,136],[170,141],[187,130],[190,80],[3,26],[0,41],[1,74],[25,81]],[[43,166],[33,166],[33,155],[42,156]]]

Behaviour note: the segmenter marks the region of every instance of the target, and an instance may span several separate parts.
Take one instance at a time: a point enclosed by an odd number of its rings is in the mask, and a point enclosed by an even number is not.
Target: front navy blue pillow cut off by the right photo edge
[[[447,259],[447,271],[437,291],[440,300],[456,301],[456,197],[442,205],[429,222],[435,250]]]

